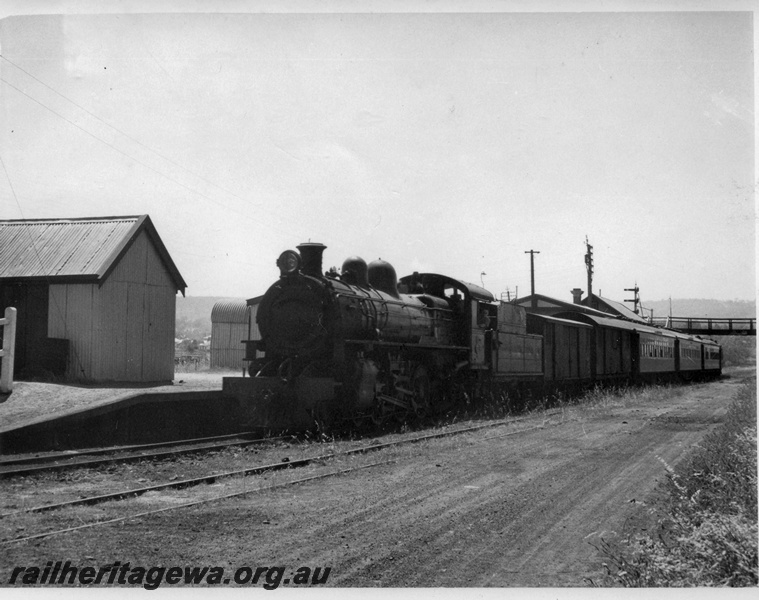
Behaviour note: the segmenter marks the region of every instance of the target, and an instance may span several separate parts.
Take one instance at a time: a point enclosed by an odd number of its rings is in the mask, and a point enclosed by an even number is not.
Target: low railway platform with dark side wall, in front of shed
[[[263,431],[250,426],[256,399],[225,392],[222,375],[137,388],[16,382],[0,398],[0,455]]]

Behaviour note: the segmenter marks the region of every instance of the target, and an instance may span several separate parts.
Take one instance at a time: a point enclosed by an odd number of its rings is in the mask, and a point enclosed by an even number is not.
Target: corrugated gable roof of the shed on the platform
[[[184,294],[187,284],[148,215],[0,221],[0,279],[102,283],[143,231]]]

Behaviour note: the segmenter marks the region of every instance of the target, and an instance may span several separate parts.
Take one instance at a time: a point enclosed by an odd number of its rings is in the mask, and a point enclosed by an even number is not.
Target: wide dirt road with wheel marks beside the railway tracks
[[[719,423],[739,385],[535,414],[347,465],[385,466],[11,545],[0,577],[118,560],[331,567],[336,586],[587,585],[604,561],[593,544],[647,526],[665,464]]]

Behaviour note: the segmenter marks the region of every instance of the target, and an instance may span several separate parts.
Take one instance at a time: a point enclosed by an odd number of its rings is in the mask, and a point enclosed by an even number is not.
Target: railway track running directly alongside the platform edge
[[[35,456],[0,459],[0,479],[20,475],[33,475],[42,471],[63,471],[76,468],[97,467],[109,463],[127,463],[141,460],[170,458],[193,452],[222,450],[232,446],[250,446],[285,437],[260,438],[253,432],[215,437],[114,446],[76,452],[55,452]]]

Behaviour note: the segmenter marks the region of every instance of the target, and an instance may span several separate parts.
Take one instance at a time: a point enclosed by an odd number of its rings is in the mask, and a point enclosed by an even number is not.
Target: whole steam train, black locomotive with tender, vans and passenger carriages
[[[382,421],[445,410],[485,386],[721,372],[720,347],[710,340],[585,307],[534,314],[445,275],[398,280],[383,260],[367,265],[354,256],[339,273],[323,273],[325,248],[305,243],[279,256],[279,280],[256,314],[261,339],[246,341],[246,385],[290,413],[330,405]]]

